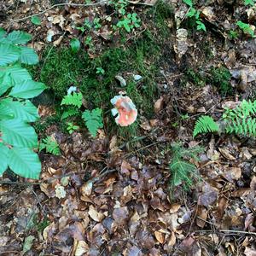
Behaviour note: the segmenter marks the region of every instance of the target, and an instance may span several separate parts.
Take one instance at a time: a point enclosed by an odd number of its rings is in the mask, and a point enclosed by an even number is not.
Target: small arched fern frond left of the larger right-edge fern
[[[208,115],[201,116],[195,123],[193,137],[199,133],[218,131],[218,124]]]

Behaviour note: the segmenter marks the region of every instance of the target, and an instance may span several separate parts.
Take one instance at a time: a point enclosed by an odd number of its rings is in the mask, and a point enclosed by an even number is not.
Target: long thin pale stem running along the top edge
[[[60,6],[65,6],[65,5],[70,5],[72,7],[92,7],[92,6],[98,6],[98,5],[101,5],[102,3],[107,3],[108,0],[102,0],[100,2],[97,2],[97,3],[56,3],[54,5],[52,5],[51,7],[47,8],[47,9],[44,9],[44,11],[42,12],[39,12],[38,14],[35,14],[35,15],[29,15],[29,16],[26,16],[26,17],[23,17],[23,18],[20,18],[20,19],[17,19],[17,20],[10,20],[10,23],[14,23],[14,22],[20,22],[22,20],[27,20],[27,19],[30,19],[32,17],[35,17],[35,16],[39,16],[39,15],[44,15],[44,13],[48,12],[50,9],[54,9],[56,7],[60,7]],[[146,5],[146,6],[154,6],[154,4],[152,3],[140,3],[138,1],[136,2],[133,2],[133,1],[128,1],[128,3],[131,3],[131,4],[140,4],[140,5]]]

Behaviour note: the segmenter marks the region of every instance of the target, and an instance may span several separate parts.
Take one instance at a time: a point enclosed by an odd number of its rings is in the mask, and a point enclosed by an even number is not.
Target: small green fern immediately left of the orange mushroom
[[[85,110],[84,113],[82,114],[82,117],[85,121],[86,127],[90,131],[90,134],[93,137],[96,137],[98,129],[103,127],[102,109],[96,108],[96,109],[93,109],[92,111]]]

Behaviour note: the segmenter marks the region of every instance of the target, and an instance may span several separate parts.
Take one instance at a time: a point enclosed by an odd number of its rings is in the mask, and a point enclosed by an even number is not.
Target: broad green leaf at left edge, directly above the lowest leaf
[[[38,146],[38,136],[32,126],[20,119],[0,121],[3,142],[12,146],[35,148]]]

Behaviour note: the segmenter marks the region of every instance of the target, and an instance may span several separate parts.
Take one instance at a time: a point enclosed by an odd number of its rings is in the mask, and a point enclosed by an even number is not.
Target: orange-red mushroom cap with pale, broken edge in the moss
[[[114,96],[110,101],[115,107],[111,110],[115,122],[120,126],[128,126],[137,119],[137,109],[128,96]]]

